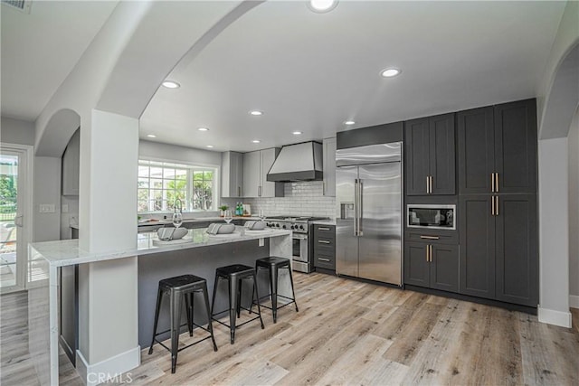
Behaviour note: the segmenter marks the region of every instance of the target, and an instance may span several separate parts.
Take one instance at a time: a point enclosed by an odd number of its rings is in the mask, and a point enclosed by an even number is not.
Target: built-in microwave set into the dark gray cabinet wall
[[[406,205],[408,228],[456,230],[456,205],[409,203]]]

